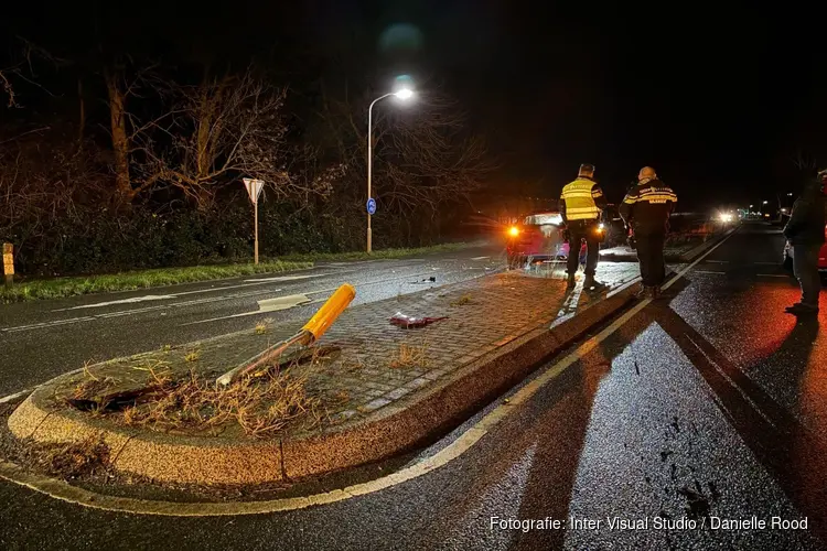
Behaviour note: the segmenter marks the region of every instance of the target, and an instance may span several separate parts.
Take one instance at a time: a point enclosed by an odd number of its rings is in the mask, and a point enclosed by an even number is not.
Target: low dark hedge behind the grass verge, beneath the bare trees
[[[432,245],[440,236],[438,222],[430,217],[399,220],[391,214],[376,216],[374,247]],[[362,250],[365,224],[364,215],[355,209],[336,213],[324,206],[297,209],[289,204],[262,203],[259,252],[279,257]],[[116,214],[105,208],[75,207],[49,224],[37,220],[36,225],[0,228],[0,239],[15,245],[15,266],[21,274],[110,273],[253,257],[253,212],[246,197],[210,212],[182,208],[158,214],[144,206]]]

